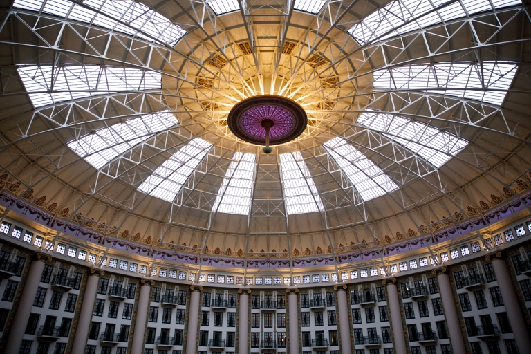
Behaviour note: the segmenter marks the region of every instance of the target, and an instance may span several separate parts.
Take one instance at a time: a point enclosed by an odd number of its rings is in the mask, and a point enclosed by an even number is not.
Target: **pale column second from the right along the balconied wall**
[[[454,292],[451,290],[448,274],[442,272],[437,274],[437,283],[440,299],[443,301],[443,308],[445,310],[446,326],[450,335],[452,353],[466,353],[465,339],[463,338],[463,330],[461,330],[456,308],[456,299],[454,298]]]

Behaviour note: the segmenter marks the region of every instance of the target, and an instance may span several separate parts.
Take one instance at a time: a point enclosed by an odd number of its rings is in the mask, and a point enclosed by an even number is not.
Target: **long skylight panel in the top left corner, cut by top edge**
[[[142,3],[133,0],[86,0],[85,6],[98,10],[105,15],[89,10],[68,0],[15,0],[14,8],[42,11],[50,15],[66,17],[75,21],[102,26],[109,30],[137,35],[142,39],[153,41],[147,35],[174,46],[186,34],[183,28],[173,24],[169,19],[154,12]],[[118,21],[128,24],[124,26]]]

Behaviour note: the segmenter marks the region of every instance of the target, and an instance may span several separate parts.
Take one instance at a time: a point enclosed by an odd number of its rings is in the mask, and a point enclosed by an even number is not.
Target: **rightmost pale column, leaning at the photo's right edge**
[[[514,290],[514,283],[512,282],[507,262],[503,259],[495,259],[492,261],[492,268],[494,268],[494,273],[496,274],[496,280],[498,281],[501,297],[503,298],[503,304],[505,304],[505,311],[507,311],[507,317],[509,317],[516,345],[520,353],[525,353],[531,350],[531,340],[527,329],[528,326],[525,324],[522,309],[520,308],[520,302],[516,296],[516,290]]]

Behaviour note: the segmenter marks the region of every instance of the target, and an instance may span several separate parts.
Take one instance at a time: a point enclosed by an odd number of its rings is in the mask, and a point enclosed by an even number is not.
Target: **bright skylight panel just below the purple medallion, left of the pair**
[[[217,209],[220,213],[249,214],[256,158],[254,153],[234,153],[219,188],[213,212]]]

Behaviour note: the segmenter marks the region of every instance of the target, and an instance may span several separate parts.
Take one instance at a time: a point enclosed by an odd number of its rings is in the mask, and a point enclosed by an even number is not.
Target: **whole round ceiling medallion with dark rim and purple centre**
[[[306,112],[297,102],[276,95],[250,97],[232,107],[227,118],[230,131],[246,142],[279,145],[297,138],[306,129]]]

